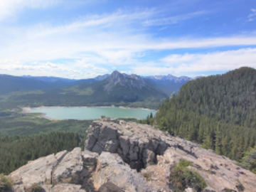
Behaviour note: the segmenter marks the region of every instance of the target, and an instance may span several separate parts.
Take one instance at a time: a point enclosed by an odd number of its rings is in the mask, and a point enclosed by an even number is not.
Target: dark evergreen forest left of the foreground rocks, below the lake
[[[31,136],[0,137],[0,174],[27,164],[41,156],[55,154],[58,151],[71,151],[83,146],[84,136],[75,133],[52,132]]]

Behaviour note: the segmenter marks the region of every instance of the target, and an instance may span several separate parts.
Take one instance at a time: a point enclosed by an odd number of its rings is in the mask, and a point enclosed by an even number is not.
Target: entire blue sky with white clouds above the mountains
[[[255,0],[0,0],[0,74],[195,77],[256,68]]]

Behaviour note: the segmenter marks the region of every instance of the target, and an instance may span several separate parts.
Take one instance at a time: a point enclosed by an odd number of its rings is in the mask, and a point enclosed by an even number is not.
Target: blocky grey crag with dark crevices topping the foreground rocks
[[[85,149],[101,154],[102,151],[117,153],[132,169],[138,171],[148,165],[156,164],[156,155],[163,155],[170,146],[159,135],[160,131],[151,126],[110,121],[94,121],[87,130]]]

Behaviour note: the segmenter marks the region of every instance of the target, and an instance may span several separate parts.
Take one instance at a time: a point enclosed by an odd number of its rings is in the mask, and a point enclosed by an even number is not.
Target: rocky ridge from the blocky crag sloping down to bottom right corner
[[[256,188],[255,174],[237,166],[235,161],[148,125],[104,117],[92,122],[87,130],[85,148],[98,154],[102,151],[118,154],[132,169],[141,170],[153,191],[170,190],[170,170],[180,159],[193,163],[189,169],[205,179],[206,191],[240,191],[240,186],[244,191]]]

